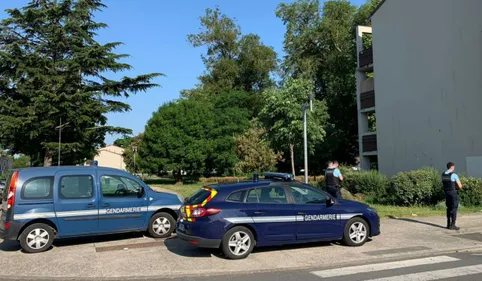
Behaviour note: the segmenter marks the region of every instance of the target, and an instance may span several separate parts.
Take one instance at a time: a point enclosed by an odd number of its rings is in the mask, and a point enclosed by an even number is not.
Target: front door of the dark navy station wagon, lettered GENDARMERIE
[[[289,192],[295,201],[297,214],[296,239],[329,240],[341,238],[341,211],[327,206],[328,195],[321,190],[302,184],[289,184]]]

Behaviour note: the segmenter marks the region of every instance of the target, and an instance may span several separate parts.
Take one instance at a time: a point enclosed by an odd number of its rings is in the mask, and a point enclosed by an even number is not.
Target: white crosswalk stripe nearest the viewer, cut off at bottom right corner
[[[370,279],[366,281],[431,281],[482,273],[482,265],[471,265],[456,268],[405,274],[393,277]]]

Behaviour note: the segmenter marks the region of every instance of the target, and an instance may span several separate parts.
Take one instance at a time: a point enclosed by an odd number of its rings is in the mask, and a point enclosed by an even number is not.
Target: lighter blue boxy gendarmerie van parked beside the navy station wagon
[[[55,238],[175,230],[183,198],[156,192],[133,175],[97,166],[13,170],[2,194],[0,237],[42,252]]]

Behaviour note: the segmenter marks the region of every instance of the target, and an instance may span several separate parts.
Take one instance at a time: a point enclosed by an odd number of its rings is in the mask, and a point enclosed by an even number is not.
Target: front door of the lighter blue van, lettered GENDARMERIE
[[[145,228],[147,198],[142,185],[133,177],[110,172],[99,174],[101,232],[120,232]]]

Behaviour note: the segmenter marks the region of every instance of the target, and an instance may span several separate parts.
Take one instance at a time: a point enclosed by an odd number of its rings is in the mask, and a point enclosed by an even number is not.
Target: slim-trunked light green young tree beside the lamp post
[[[313,94],[313,83],[307,79],[288,78],[281,88],[264,92],[266,104],[259,115],[267,128],[267,135],[277,151],[289,151],[291,171],[295,170],[295,151],[302,150],[303,116],[302,104]],[[324,101],[313,101],[313,112],[308,110],[307,129],[309,151],[313,153],[316,144],[325,136],[324,123],[327,119]]]

